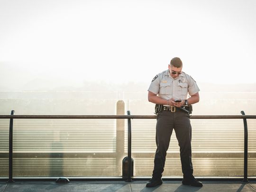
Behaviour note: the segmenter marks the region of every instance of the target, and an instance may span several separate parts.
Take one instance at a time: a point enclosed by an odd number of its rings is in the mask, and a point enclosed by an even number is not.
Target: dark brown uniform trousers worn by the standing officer
[[[189,115],[176,109],[176,112],[162,111],[157,115],[153,177],[162,176],[165,167],[166,151],[168,150],[173,129],[180,146],[180,157],[183,175],[192,175],[191,124]]]

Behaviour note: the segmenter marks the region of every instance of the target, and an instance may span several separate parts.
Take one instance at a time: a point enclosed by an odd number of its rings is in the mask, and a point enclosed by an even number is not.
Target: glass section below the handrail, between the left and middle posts
[[[14,176],[120,175],[115,119],[14,122]]]

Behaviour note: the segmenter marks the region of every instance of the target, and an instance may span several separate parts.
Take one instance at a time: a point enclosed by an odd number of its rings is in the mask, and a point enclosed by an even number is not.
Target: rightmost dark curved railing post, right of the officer
[[[244,111],[241,111],[242,115],[245,115]],[[244,179],[242,182],[249,182],[247,176],[247,170],[248,170],[248,127],[247,127],[247,120],[246,118],[243,119],[244,120]]]

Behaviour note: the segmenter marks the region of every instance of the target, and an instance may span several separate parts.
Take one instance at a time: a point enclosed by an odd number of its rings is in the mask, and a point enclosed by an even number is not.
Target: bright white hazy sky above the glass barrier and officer
[[[256,0],[0,0],[0,82],[256,83],[255,34]]]

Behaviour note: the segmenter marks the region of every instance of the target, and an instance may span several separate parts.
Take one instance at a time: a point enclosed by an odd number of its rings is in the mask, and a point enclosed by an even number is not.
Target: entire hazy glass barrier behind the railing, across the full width
[[[124,98],[146,97],[146,92],[128,92]],[[30,94],[26,92],[26,94]],[[56,96],[38,93],[39,99],[20,93],[0,100],[1,114],[16,115],[113,115],[117,100],[98,100],[99,93],[67,92]],[[50,94],[50,96],[47,96]],[[108,97],[119,97],[106,92]],[[63,95],[63,96],[62,96]],[[45,97],[54,99],[44,99]],[[59,99],[63,97],[63,99]],[[77,97],[77,100],[72,98]],[[82,99],[85,97],[86,99]],[[101,95],[102,97],[102,95]],[[95,98],[92,100],[90,98]],[[56,99],[56,100],[55,100]],[[227,100],[225,100],[226,102]],[[223,101],[224,102],[224,101]],[[232,103],[233,101],[227,101]],[[203,100],[202,100],[203,103]],[[209,103],[208,103],[209,104]],[[125,100],[131,115],[154,115],[154,104],[147,100]],[[214,101],[210,105],[216,105]],[[238,108],[247,103],[241,103]],[[104,107],[102,107],[104,106]],[[204,110],[195,105],[194,110]],[[198,108],[198,109],[197,109]],[[46,110],[47,109],[47,110]],[[251,109],[251,108],[250,108]],[[8,110],[8,112],[6,112]],[[37,112],[38,110],[38,112]],[[208,110],[208,111],[207,111]],[[237,110],[237,109],[236,109]],[[215,110],[218,114],[217,109]],[[232,115],[221,111],[221,115]],[[247,111],[246,111],[247,112]],[[251,111],[249,111],[252,113]],[[227,113],[227,114],[226,114]],[[197,115],[193,113],[193,115]],[[240,114],[235,114],[240,115]],[[14,119],[14,176],[120,176],[122,159],[127,156],[127,120],[123,128],[116,119]],[[248,175],[256,175],[256,120],[248,122]],[[155,119],[132,119],[132,158],[134,175],[150,176],[154,167]],[[242,119],[191,119],[194,175],[243,175],[244,128]],[[0,176],[8,176],[9,119],[0,119]],[[125,142],[124,142],[125,141]],[[164,176],[181,176],[179,146],[173,132],[167,152]]]

